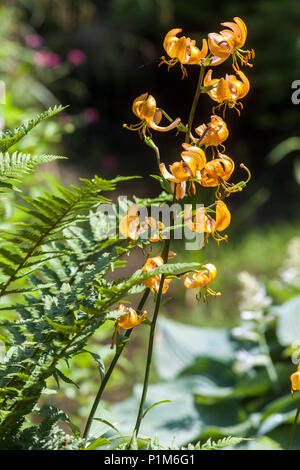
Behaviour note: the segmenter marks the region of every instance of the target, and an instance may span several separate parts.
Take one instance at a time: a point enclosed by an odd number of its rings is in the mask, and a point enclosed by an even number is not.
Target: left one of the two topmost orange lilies
[[[170,60],[166,60],[165,57],[162,57],[162,62],[159,64],[167,64],[168,70],[173,65],[180,62],[182,70],[182,78],[187,75],[187,71],[184,65],[195,65],[199,64],[200,61],[206,56],[208,52],[208,46],[206,39],[202,40],[202,49],[196,47],[196,41],[191,40],[182,36],[181,38],[177,37],[177,34],[181,33],[182,29],[174,28],[169,31],[164,39],[164,49],[167,54],[171,57]]]

